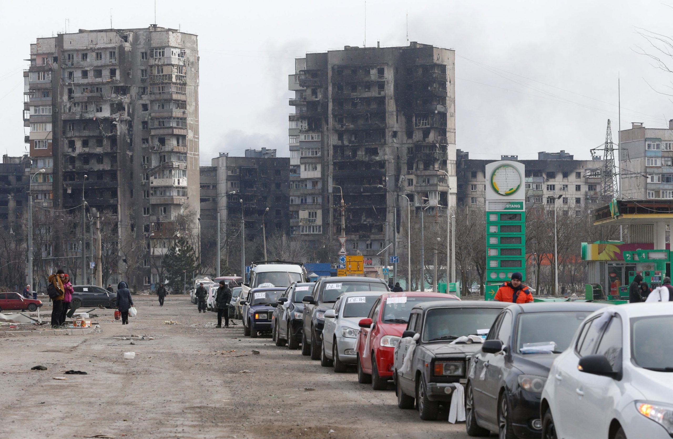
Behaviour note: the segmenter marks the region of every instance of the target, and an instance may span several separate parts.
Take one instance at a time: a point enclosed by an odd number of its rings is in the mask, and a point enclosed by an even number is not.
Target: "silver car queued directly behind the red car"
[[[320,366],[334,366],[334,372],[346,372],[348,364],[355,364],[355,343],[360,331],[357,324],[369,315],[371,306],[385,291],[351,292],[339,296],[331,310],[325,311],[322,329]]]

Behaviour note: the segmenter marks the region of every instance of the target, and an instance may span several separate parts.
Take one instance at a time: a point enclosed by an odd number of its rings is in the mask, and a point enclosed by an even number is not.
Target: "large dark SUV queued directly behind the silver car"
[[[316,282],[313,294],[304,297],[304,314],[302,315],[302,355],[311,355],[311,360],[320,360],[322,350],[322,327],[324,314],[332,309],[336,298],[342,293],[355,291],[387,292],[388,283],[374,277],[322,277]]]

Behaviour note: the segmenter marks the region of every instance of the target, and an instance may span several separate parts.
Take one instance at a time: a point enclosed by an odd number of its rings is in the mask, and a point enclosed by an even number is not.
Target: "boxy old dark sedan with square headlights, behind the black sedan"
[[[414,306],[394,353],[393,380],[398,407],[413,409],[416,401],[421,419],[437,419],[439,405],[449,403],[456,385],[466,382],[468,362],[481,348],[480,333],[491,328],[499,312],[509,305],[443,300]],[[419,337],[414,340],[417,334]],[[475,337],[457,341],[469,335]],[[413,353],[406,359],[412,345]],[[406,366],[404,360],[408,362]]]

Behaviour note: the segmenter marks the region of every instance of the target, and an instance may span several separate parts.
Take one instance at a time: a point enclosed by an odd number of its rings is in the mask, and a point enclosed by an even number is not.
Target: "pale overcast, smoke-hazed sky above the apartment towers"
[[[287,151],[287,75],[306,51],[344,45],[406,45],[456,50],[456,143],[470,158],[589,149],[617,125],[667,127],[672,103],[666,74],[635,50],[637,28],[673,35],[673,8],[660,1],[172,1],[157,0],[159,26],[199,35],[201,164],[219,151]],[[672,2],[673,4],[673,2]],[[2,154],[24,154],[24,59],[37,36],[77,29],[143,28],[151,0],[5,2],[0,18],[5,67],[0,73]],[[407,9],[409,8],[409,9]],[[24,132],[25,130],[25,132]]]

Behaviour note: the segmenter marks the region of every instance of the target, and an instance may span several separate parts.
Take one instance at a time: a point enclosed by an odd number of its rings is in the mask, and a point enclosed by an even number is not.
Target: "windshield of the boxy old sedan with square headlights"
[[[425,314],[423,341],[455,340],[493,325],[502,308],[435,308]]]

